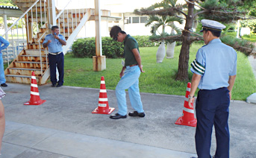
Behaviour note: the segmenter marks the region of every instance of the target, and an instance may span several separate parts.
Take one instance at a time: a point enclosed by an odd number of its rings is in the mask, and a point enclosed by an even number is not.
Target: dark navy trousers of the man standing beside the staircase
[[[56,64],[57,64],[57,71],[59,72],[59,80],[57,82],[56,78]],[[49,54],[49,65],[50,65],[50,75],[51,75],[51,83],[52,84],[59,84],[63,85],[63,78],[64,78],[64,55],[63,53],[52,55]]]

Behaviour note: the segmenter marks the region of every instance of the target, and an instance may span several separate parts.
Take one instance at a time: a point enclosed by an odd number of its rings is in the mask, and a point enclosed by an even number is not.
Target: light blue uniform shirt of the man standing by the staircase
[[[66,39],[61,34],[58,34],[57,36],[66,42]],[[54,38],[53,34],[48,34],[46,36],[46,39],[43,41],[43,44],[46,43],[49,39],[51,40],[51,42],[48,45],[48,50],[50,53],[57,53],[57,52],[63,51],[62,44],[58,39]]]

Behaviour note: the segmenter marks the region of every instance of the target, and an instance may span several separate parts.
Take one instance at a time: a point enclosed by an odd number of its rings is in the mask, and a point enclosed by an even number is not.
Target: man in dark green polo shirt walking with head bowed
[[[139,45],[134,37],[126,34],[119,26],[113,26],[110,31],[110,37],[118,42],[124,42],[125,45],[125,64],[120,72],[119,83],[116,86],[116,98],[118,103],[118,113],[110,116],[112,119],[126,118],[127,105],[125,98],[125,89],[128,89],[131,107],[134,112],[130,112],[129,116],[144,117],[143,104],[140,99],[139,78],[140,72],[143,72],[141,65]]]

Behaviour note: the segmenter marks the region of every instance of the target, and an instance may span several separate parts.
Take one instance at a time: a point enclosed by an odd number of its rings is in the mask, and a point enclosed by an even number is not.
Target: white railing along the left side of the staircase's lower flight
[[[11,25],[10,28],[8,28],[7,31],[5,31],[5,33],[2,35],[2,37],[5,37],[5,35],[7,35],[8,37],[10,35],[10,38],[11,38],[11,40],[9,40],[10,45],[6,49],[8,66],[9,66],[10,60],[13,60],[19,54],[19,52],[25,47],[25,45],[27,45],[27,42],[33,42],[34,34],[37,34],[39,32],[38,25],[40,24],[40,26],[42,27],[43,22],[46,22],[46,19],[47,19],[46,11],[44,15],[42,11],[40,12],[40,22],[38,20],[38,15],[37,15],[38,3],[40,4],[40,10],[42,10],[43,7],[46,8],[46,0],[35,1],[34,4],[32,4],[31,7],[29,7],[28,10],[26,10],[25,13],[23,13],[22,16],[20,16],[19,19],[17,19],[16,22],[14,22],[13,25]],[[42,4],[44,4],[43,7],[42,7]],[[36,16],[35,21],[33,18],[34,13]],[[44,16],[44,21],[43,21],[43,16]],[[26,29],[25,29],[25,21],[27,23]],[[16,31],[15,31],[15,27],[16,27]],[[19,33],[18,28],[22,28],[21,33]],[[29,28],[31,28],[32,30],[31,32],[29,31]],[[28,37],[28,38],[25,39],[25,37]],[[9,54],[9,52],[12,52],[13,54]]]

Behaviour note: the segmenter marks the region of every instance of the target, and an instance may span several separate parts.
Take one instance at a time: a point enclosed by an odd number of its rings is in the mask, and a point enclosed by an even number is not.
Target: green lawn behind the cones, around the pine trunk
[[[201,44],[193,44],[190,48],[191,63],[196,57],[196,51]],[[163,63],[156,63],[157,47],[140,48],[143,69],[140,75],[140,92],[160,93],[169,95],[185,95],[187,82],[175,80],[178,72],[178,55],[181,45],[175,48],[175,57],[164,59]],[[234,85],[232,98],[246,100],[256,91],[256,80],[252,73],[247,57],[238,52],[237,80]],[[115,89],[119,81],[119,72],[122,69],[121,59],[107,59],[107,69],[102,72],[93,72],[93,59],[75,58],[72,54],[65,55],[65,83],[66,86],[82,86],[90,88],[100,87],[101,77],[104,76],[107,89]],[[189,72],[190,80],[192,73]]]

